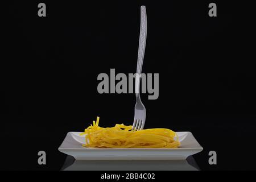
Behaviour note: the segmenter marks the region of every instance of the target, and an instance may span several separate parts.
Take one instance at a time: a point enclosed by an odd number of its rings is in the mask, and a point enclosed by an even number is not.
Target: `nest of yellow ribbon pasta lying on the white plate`
[[[169,129],[145,129],[132,131],[132,126],[116,124],[114,127],[100,127],[96,122],[84,130],[84,147],[98,148],[177,148],[179,140]]]

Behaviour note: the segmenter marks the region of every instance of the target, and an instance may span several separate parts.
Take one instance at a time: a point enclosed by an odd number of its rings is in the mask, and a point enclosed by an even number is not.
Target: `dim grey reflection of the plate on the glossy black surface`
[[[187,160],[75,160],[67,156],[63,171],[198,171],[195,159]]]

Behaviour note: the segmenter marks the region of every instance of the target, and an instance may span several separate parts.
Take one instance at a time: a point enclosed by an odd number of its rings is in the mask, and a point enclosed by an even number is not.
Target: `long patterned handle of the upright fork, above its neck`
[[[139,51],[138,51],[138,60],[137,60],[137,74],[135,78],[135,94],[136,97],[139,97],[139,85],[141,82],[141,71],[144,59],[144,53],[146,48],[146,39],[147,39],[147,13],[146,7],[141,6],[141,30],[139,33]]]

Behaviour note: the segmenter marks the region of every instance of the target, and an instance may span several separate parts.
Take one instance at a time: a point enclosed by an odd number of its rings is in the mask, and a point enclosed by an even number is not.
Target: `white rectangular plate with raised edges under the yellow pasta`
[[[203,150],[191,132],[176,132],[179,148],[85,148],[85,137],[80,133],[69,132],[59,151],[76,160],[184,160]]]

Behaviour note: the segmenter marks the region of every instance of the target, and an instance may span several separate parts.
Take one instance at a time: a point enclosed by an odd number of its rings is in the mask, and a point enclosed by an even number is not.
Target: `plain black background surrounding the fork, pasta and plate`
[[[41,2],[41,1],[40,1]],[[134,94],[99,94],[97,76],[134,73],[140,6],[147,9],[143,72],[159,73],[147,100],[146,128],[191,131],[201,169],[255,167],[255,39],[252,5],[234,1],[13,1],[3,49],[1,169],[59,170],[68,131],[96,116],[101,126],[131,125]],[[210,2],[217,17],[208,16]],[[47,165],[38,165],[38,151]],[[208,152],[217,152],[217,165]]]

